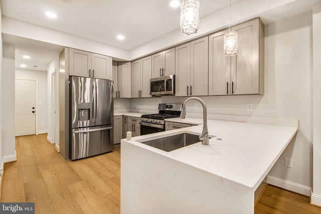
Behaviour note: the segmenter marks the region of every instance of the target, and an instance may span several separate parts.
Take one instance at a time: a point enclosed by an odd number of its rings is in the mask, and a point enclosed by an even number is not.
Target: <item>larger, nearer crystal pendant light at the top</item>
[[[183,0],[181,4],[181,32],[195,34],[200,26],[200,3],[198,0]]]

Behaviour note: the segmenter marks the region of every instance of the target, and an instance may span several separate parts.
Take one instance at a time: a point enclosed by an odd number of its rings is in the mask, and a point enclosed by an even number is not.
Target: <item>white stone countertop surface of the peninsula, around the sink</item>
[[[203,123],[203,119],[195,118],[174,118],[167,121]],[[208,120],[209,134],[217,136],[209,140],[209,145],[198,142],[166,152],[139,142],[184,131],[199,134],[202,133],[202,129],[203,125],[197,125],[122,141],[248,186],[254,192],[295,135],[297,126]]]

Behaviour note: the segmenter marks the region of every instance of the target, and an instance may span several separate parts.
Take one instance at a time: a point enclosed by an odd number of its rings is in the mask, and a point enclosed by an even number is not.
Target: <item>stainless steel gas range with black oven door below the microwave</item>
[[[158,114],[140,117],[140,135],[165,131],[165,119],[180,117],[183,104],[158,104]]]

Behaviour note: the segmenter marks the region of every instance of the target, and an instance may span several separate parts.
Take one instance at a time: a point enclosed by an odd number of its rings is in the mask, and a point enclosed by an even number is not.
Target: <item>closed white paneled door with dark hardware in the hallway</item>
[[[36,134],[36,81],[16,79],[16,136]]]

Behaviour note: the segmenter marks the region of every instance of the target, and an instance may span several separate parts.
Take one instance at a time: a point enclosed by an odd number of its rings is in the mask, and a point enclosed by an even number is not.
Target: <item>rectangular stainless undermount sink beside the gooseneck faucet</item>
[[[146,141],[140,141],[140,142],[148,146],[161,149],[163,151],[173,151],[175,149],[179,149],[179,148],[200,142],[199,135],[200,134],[179,133],[179,134],[175,134],[167,137],[161,137],[161,138],[152,139],[152,140],[145,139]],[[209,138],[211,137],[212,136],[210,136]]]

